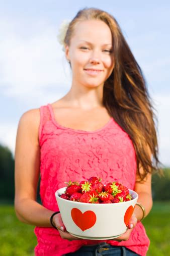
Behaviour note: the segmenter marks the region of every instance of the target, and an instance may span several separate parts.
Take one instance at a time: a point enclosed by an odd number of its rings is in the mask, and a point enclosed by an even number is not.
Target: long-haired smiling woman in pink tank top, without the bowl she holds
[[[152,208],[151,174],[159,170],[159,161],[142,71],[115,18],[99,9],[76,14],[65,31],[64,49],[72,71],[70,90],[27,111],[19,122],[16,215],[36,226],[37,256],[146,255],[149,238],[140,220]],[[36,201],[39,175],[42,205]],[[78,239],[66,231],[60,213],[50,221],[59,211],[55,191],[64,182],[91,176],[105,183],[117,180],[139,195],[128,230],[116,239]]]

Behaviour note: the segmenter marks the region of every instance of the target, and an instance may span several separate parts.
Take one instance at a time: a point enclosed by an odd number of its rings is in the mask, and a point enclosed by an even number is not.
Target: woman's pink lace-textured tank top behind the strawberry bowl
[[[114,121],[96,131],[83,131],[57,123],[52,106],[40,107],[39,143],[41,148],[40,196],[42,205],[59,211],[55,191],[65,187],[64,182],[81,181],[100,176],[107,183],[113,180],[134,189],[136,156],[129,135]],[[53,227],[35,227],[36,256],[61,256],[74,252],[83,245],[107,242],[126,246],[139,255],[146,255],[149,238],[142,223],[137,223],[128,241],[62,239]]]

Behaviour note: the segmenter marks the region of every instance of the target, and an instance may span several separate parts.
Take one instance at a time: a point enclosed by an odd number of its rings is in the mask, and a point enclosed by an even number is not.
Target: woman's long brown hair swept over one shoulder
[[[161,168],[158,166],[160,162],[155,109],[146,88],[144,75],[118,22],[103,10],[83,8],[78,11],[68,26],[64,38],[66,45],[70,44],[75,25],[84,20],[101,20],[111,29],[115,67],[104,84],[103,105],[133,142],[140,181],[147,173],[161,173]],[[139,171],[140,167],[143,169],[142,172]]]

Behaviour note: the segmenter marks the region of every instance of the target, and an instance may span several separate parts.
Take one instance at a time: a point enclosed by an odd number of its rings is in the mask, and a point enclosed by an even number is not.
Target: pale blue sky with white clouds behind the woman
[[[71,74],[57,34],[62,21],[71,20],[84,7],[108,11],[118,21],[157,110],[160,161],[170,166],[169,1],[3,1],[0,143],[14,154],[21,115],[54,102],[69,90]]]

